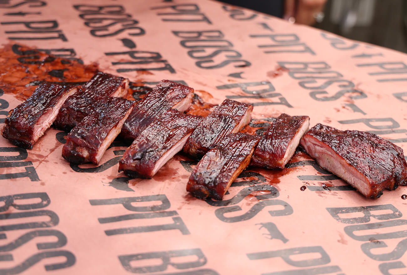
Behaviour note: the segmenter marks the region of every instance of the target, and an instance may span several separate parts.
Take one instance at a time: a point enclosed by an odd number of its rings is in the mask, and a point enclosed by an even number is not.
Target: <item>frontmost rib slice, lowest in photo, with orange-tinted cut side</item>
[[[189,178],[186,191],[199,199],[222,199],[229,186],[249,165],[260,136],[228,134],[198,162]]]

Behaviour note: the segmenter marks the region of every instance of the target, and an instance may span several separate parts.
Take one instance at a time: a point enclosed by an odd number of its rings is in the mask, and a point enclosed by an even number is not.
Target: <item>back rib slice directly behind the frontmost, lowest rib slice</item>
[[[204,118],[186,142],[184,152],[201,158],[227,134],[236,133],[249,124],[253,106],[226,99]]]

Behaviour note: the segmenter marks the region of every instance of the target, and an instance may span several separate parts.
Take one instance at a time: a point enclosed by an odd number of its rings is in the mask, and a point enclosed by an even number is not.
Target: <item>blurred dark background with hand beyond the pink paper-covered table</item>
[[[407,53],[407,0],[222,0]]]

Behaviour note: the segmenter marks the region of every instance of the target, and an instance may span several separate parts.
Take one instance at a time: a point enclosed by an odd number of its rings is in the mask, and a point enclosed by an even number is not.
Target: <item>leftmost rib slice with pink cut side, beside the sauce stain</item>
[[[66,99],[77,92],[74,86],[42,83],[25,102],[9,112],[2,135],[14,145],[31,149],[51,126]]]

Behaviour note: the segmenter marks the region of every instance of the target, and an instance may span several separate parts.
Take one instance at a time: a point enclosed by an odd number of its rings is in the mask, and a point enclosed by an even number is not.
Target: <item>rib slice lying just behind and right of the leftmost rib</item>
[[[128,88],[127,78],[98,72],[83,84],[78,93],[66,100],[54,122],[54,127],[69,132],[93,112],[98,100],[109,96],[125,97]]]

